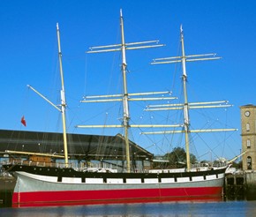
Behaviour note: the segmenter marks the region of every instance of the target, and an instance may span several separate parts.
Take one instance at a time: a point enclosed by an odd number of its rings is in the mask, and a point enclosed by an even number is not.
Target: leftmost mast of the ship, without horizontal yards
[[[62,52],[60,46],[60,33],[58,23],[56,24],[56,36],[57,36],[57,47],[58,47],[58,60],[59,60],[59,71],[61,77],[61,113],[62,113],[62,121],[63,121],[63,137],[64,137],[64,162],[65,167],[68,167],[68,147],[67,147],[67,135],[66,135],[66,120],[65,120],[65,109],[66,109],[66,101],[64,94],[64,72],[62,67]]]

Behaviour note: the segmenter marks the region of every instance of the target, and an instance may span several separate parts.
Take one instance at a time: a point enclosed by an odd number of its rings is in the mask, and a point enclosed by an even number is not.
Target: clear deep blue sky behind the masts
[[[103,112],[109,105],[98,106],[102,113],[97,115],[94,114],[93,105],[80,104],[79,101],[84,94],[118,94],[121,90],[120,54],[85,53],[91,46],[120,42],[121,8],[126,42],[160,40],[166,44],[161,49],[127,52],[130,71],[128,91],[131,93],[177,91],[173,83],[174,79],[179,79],[180,68],[175,65],[152,66],[149,63],[155,57],[178,55],[181,24],[186,54],[216,52],[222,56],[218,61],[188,64],[189,90],[192,93],[189,99],[229,100],[234,105],[229,111],[221,110],[222,115],[215,118],[224,117],[223,123],[238,131],[226,136],[230,140],[224,142],[224,146],[214,145],[218,146],[214,152],[227,158],[237,155],[241,149],[239,107],[256,104],[255,1],[2,0],[0,129],[61,131],[58,112],[26,87],[34,86],[51,101],[59,103],[56,22],[61,30],[69,106],[68,131],[94,133],[74,128],[76,124],[91,120],[89,116],[99,117],[94,120],[96,124],[101,124],[102,118],[103,122],[109,121],[111,112],[108,116]],[[138,107],[141,109],[140,105]],[[20,123],[21,116],[26,118],[26,128]],[[135,110],[134,120],[141,120],[142,116],[144,118],[141,111]],[[102,133],[107,135],[116,132],[96,132]],[[152,147],[152,144],[159,142],[158,138],[155,141],[150,138],[150,142],[146,142],[136,133],[132,136],[144,147]],[[209,153],[208,145],[192,149],[201,156]],[[162,145],[154,146],[149,151],[162,153]]]

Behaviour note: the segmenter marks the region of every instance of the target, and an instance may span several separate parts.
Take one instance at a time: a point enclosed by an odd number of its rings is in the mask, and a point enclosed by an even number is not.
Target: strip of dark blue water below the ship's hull
[[[68,216],[256,216],[256,201],[178,202],[152,204],[119,204],[101,206],[56,206],[3,208],[4,217],[68,217]]]

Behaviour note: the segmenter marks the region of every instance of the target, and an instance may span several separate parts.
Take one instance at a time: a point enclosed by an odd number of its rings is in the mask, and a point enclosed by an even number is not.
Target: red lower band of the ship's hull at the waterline
[[[222,187],[111,191],[14,192],[12,206],[73,206],[222,198]]]

